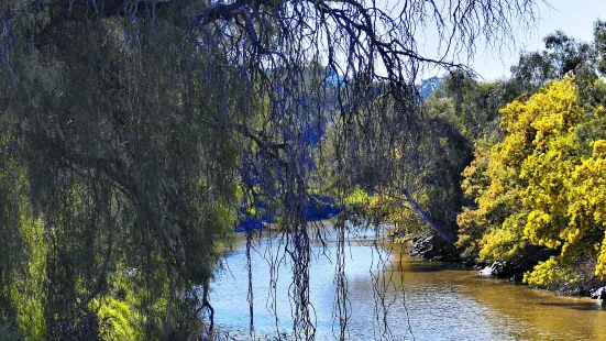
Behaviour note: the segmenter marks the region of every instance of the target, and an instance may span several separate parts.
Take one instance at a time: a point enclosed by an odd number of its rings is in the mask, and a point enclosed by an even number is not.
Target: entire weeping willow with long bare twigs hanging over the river
[[[294,338],[312,339],[305,207],[318,161],[339,196],[405,174],[419,70],[465,68],[450,56],[510,38],[536,3],[379,8],[0,1],[0,337],[186,339],[212,312],[234,220],[263,201],[295,264]],[[425,30],[441,56],[418,53]],[[399,144],[410,154],[392,158]],[[352,176],[360,162],[384,166]]]

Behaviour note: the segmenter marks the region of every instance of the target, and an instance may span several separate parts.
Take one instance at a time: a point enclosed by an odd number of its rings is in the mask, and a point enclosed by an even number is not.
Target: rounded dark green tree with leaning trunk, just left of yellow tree
[[[348,136],[376,134],[375,141],[386,147],[381,148],[383,154],[363,148],[349,156],[356,160],[357,167],[345,204],[372,221],[393,223],[396,232],[438,231],[452,239],[463,199],[461,172],[471,161],[472,145],[459,130],[452,102],[444,98],[428,99],[414,122],[399,121],[398,110],[401,108],[390,98],[376,98],[373,112],[375,113],[377,120]],[[327,141],[340,143],[331,133]]]

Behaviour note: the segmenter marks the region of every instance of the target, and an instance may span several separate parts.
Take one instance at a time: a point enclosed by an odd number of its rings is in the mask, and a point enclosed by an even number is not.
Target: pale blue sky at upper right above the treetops
[[[539,0],[540,1],[540,0]],[[485,80],[495,80],[509,75],[509,67],[518,62],[521,51],[543,48],[542,37],[557,30],[582,40],[593,40],[593,24],[597,19],[606,20],[606,0],[546,0],[539,4],[539,20],[535,30],[517,30],[516,43],[504,48],[487,47],[477,44],[477,51],[471,66]],[[433,34],[423,32],[419,40],[419,50],[426,55],[436,52]],[[463,61],[465,62],[465,61]],[[426,70],[422,78],[443,74],[439,70]]]

